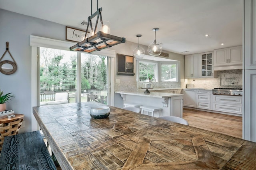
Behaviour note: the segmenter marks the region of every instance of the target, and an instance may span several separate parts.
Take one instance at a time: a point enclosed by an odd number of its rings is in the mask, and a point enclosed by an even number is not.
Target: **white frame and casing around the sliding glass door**
[[[44,37],[38,37],[38,36],[30,36],[30,46],[31,46],[31,106],[39,106],[40,105],[40,84],[39,84],[39,73],[40,73],[40,61],[38,60],[39,56],[39,47],[46,47],[46,48],[54,48],[54,49],[62,49],[62,50],[68,50],[70,46],[73,46],[74,42],[66,42],[61,40],[54,40],[50,38],[44,38]],[[114,90],[111,91],[111,89],[114,89],[114,57],[116,57],[116,51],[110,50],[110,49],[103,49],[101,51],[97,51],[94,54],[96,55],[104,55],[110,57],[108,60],[108,71],[110,73],[109,75],[109,81],[108,81],[108,90],[109,90],[109,99],[108,99],[108,105],[114,106]],[[81,55],[78,52],[78,60],[77,62],[81,64],[80,60]],[[81,75],[78,75],[81,76]],[[78,84],[81,83],[81,80],[78,79]],[[78,89],[79,91],[79,89]],[[81,90],[80,90],[81,91]],[[78,95],[79,96],[79,95]],[[35,100],[36,99],[36,100]],[[79,102],[79,100],[78,100]],[[39,126],[37,124],[37,121],[31,111],[31,130],[39,130]]]

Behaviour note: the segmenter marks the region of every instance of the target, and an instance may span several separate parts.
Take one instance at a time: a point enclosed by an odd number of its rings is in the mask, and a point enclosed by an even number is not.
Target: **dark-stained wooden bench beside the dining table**
[[[56,170],[40,131],[6,136],[0,154],[1,170]]]

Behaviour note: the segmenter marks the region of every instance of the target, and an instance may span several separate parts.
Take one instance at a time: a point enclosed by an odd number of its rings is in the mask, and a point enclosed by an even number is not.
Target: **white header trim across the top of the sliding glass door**
[[[44,38],[38,36],[30,35],[30,45],[35,47],[46,47],[46,48],[54,48],[54,49],[62,49],[69,51],[69,47],[73,46],[75,43],[66,42],[61,40],[54,40],[51,38]],[[80,51],[76,51],[80,52]],[[111,49],[102,49],[101,51],[96,51],[92,53],[95,55],[104,55],[108,57],[116,57],[116,51]]]

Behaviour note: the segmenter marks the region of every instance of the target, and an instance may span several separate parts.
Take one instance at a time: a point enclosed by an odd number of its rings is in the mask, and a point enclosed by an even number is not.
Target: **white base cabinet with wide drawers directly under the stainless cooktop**
[[[242,96],[213,95],[213,110],[242,114]]]

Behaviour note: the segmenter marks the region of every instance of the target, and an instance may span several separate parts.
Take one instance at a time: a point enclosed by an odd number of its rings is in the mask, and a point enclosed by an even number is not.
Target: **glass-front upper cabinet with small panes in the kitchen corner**
[[[213,51],[200,53],[200,78],[213,77],[213,55]]]

